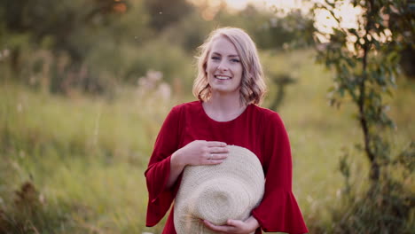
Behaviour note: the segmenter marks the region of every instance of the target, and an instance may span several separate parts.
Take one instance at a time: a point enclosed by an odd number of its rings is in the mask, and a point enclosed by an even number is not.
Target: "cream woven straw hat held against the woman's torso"
[[[184,168],[175,201],[177,234],[215,233],[200,220],[215,225],[246,220],[260,203],[265,183],[261,162],[246,148],[228,147],[221,164]]]

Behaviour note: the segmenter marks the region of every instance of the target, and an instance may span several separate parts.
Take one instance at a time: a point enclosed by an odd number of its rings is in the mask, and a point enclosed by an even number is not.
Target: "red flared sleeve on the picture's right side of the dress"
[[[301,210],[292,192],[291,148],[278,113],[270,112],[263,124],[265,192],[252,215],[266,232],[307,233]]]

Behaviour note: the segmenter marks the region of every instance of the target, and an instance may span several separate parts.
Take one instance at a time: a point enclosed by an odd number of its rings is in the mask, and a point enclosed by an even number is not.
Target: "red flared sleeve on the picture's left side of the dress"
[[[179,110],[174,107],[161,126],[159,135],[154,144],[153,154],[148,168],[145,170],[145,180],[148,190],[148,205],[145,225],[153,227],[168,212],[175,198],[175,185],[167,188],[170,175],[170,158],[176,152],[179,141],[180,116]]]

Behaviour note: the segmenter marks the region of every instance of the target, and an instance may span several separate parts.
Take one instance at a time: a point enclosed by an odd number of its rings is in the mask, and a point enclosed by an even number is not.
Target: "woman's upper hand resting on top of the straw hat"
[[[223,142],[196,140],[177,150],[173,157],[178,165],[212,165],[228,157],[228,147]]]

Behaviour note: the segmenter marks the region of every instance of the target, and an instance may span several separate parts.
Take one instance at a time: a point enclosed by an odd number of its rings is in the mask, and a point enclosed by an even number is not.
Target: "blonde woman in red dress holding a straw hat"
[[[222,163],[227,145],[235,144],[261,161],[266,178],[262,202],[245,221],[229,220],[223,226],[201,222],[221,233],[308,232],[292,193],[291,150],[283,121],[278,113],[258,106],[265,84],[254,42],[242,29],[224,27],[213,31],[200,48],[193,86],[199,101],[177,105],[168,113],[145,171],[146,225],[157,224],[167,213],[185,166]],[[172,214],[163,233],[176,233]]]

